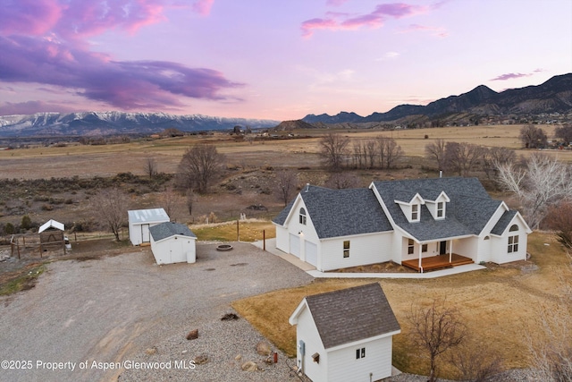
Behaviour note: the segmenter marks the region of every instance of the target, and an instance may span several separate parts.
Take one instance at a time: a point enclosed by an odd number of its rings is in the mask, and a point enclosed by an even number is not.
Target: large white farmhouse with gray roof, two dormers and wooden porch
[[[276,248],[328,271],[393,261],[436,267],[526,259],[531,229],[476,178],[307,186],[273,220]]]

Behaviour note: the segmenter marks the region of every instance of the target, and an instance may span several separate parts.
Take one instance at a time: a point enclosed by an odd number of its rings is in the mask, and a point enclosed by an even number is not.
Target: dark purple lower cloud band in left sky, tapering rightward
[[[223,99],[242,86],[221,72],[163,61],[118,62],[101,54],[38,38],[0,37],[0,81],[77,89],[122,109],[181,105],[177,96]]]

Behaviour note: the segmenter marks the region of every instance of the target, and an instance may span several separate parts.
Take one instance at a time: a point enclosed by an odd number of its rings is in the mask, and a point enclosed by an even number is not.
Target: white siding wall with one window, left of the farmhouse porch
[[[371,233],[321,242],[321,269],[328,271],[344,267],[381,263],[391,260],[392,233]],[[349,240],[349,258],[343,257],[343,242]],[[318,262],[320,264],[320,262]]]

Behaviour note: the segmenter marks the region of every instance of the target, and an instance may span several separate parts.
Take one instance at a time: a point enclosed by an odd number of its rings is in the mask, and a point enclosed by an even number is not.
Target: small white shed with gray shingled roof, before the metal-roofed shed
[[[165,222],[149,228],[151,251],[157,264],[197,261],[197,236],[187,225]]]

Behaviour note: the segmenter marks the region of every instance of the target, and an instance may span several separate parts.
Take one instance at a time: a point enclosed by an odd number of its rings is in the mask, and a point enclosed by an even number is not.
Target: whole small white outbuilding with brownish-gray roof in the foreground
[[[289,322],[298,368],[312,381],[391,377],[393,335],[401,329],[380,284],[307,296]]]

